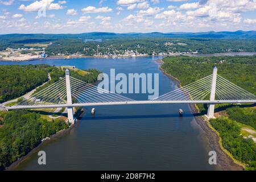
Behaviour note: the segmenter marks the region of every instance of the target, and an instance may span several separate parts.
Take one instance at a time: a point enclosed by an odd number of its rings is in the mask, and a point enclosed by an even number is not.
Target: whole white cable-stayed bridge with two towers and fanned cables
[[[73,107],[100,105],[135,105],[135,104],[208,104],[208,118],[213,118],[215,104],[256,103],[256,96],[245,89],[213,74],[172,92],[166,93],[154,100],[135,101],[121,94],[112,93],[95,85],[73,78],[68,69],[65,78],[35,93],[27,100],[15,106],[14,109],[43,109],[51,107],[67,107],[68,121],[74,123]]]

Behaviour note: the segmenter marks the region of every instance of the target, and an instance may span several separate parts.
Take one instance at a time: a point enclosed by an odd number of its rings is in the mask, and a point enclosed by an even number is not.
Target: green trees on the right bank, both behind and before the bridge
[[[179,79],[181,85],[212,74],[216,65],[218,75],[256,94],[256,56],[179,56],[166,57],[163,61],[162,68]],[[207,105],[197,106],[201,114],[205,114]],[[242,125],[255,129],[255,108],[247,105],[217,105],[216,108],[224,110],[225,114],[221,118],[212,119],[210,124],[220,133],[224,147],[235,159],[245,163],[246,169],[256,170],[256,144],[253,139],[242,135]]]

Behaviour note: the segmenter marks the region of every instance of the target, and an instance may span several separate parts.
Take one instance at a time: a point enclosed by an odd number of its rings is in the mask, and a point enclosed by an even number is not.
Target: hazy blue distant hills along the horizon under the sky
[[[112,39],[112,38],[210,38],[210,39],[255,39],[256,31],[209,31],[209,32],[150,32],[150,33],[125,33],[114,32],[89,32],[82,34],[6,34],[0,37],[36,37],[36,38],[81,38],[81,39]]]

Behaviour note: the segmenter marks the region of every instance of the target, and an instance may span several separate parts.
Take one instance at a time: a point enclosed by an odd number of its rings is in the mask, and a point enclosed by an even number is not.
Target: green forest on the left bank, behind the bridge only
[[[79,73],[71,71],[71,75],[88,83],[96,82],[100,72],[96,69],[89,69],[87,72],[88,74],[81,76]],[[48,81],[48,74],[52,78],[51,81]],[[0,103],[23,96],[48,81],[46,85],[36,90],[39,92],[64,75],[64,69],[45,64],[0,65]]]

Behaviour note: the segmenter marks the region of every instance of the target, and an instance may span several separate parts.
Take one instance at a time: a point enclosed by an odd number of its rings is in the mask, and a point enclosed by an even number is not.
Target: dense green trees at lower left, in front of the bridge
[[[0,170],[27,155],[43,138],[68,129],[67,123],[60,119],[49,122],[27,110],[1,112],[0,118],[3,124],[0,127]]]

